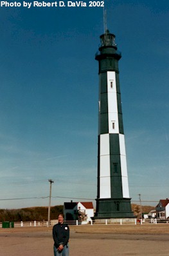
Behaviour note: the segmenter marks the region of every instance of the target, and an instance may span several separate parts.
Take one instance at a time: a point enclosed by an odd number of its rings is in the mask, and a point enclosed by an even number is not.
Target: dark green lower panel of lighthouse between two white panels
[[[111,161],[111,198],[123,198],[119,134],[109,134]]]

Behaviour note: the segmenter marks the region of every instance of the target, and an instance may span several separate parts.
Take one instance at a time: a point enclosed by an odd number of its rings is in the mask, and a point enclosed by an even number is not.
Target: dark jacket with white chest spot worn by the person
[[[67,224],[56,224],[53,226],[53,240],[55,242],[55,247],[58,248],[60,244],[63,246],[67,245],[69,241],[69,226]]]

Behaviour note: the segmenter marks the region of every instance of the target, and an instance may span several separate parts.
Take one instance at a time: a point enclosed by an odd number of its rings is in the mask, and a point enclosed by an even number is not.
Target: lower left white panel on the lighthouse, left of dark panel
[[[109,134],[100,135],[100,198],[111,198]]]

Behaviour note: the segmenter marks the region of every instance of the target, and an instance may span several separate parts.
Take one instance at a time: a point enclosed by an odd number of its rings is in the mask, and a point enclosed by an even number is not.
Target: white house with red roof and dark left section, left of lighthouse
[[[93,202],[64,202],[64,216],[66,221],[82,221],[87,224],[94,217]]]

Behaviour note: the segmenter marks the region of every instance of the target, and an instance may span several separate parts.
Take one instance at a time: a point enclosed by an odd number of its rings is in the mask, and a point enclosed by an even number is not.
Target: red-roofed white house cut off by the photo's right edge
[[[168,219],[169,217],[169,199],[161,199],[156,206],[156,217],[159,219]]]

